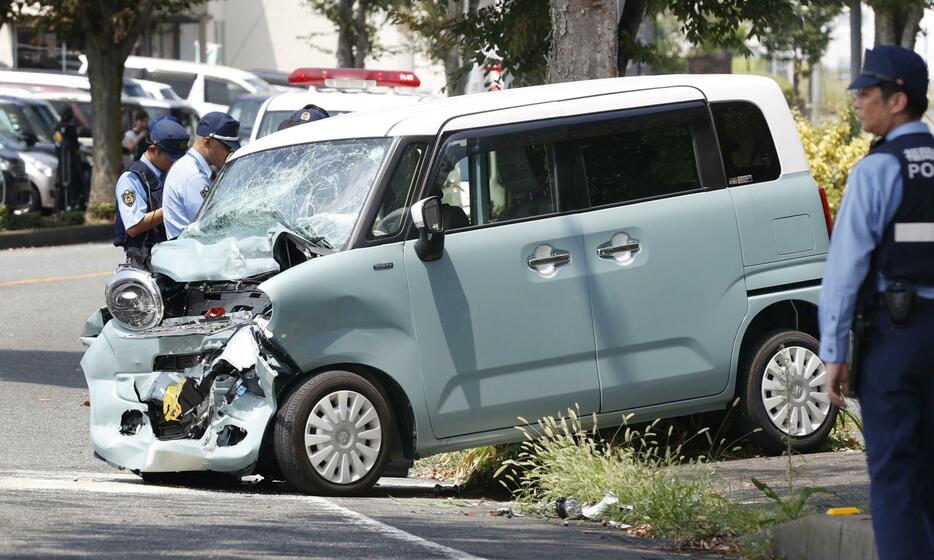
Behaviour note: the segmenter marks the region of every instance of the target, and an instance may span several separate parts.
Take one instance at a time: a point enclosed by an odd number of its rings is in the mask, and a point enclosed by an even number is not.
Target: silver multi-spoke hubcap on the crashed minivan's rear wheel
[[[807,348],[782,348],[762,374],[762,403],[776,428],[792,436],[816,432],[830,414],[824,362]]]

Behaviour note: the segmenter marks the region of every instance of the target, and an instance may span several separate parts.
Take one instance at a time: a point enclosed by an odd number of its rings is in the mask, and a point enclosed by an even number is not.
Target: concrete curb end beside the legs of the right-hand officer
[[[868,515],[811,515],[771,529],[772,553],[787,560],[878,560]]]

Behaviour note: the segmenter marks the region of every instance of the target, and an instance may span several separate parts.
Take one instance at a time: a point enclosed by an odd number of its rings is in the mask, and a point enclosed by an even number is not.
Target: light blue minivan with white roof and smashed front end
[[[774,82],[655,76],[342,115],[251,143],[122,267],[81,362],[98,457],[360,493],[579,406],[833,425],[829,212]]]

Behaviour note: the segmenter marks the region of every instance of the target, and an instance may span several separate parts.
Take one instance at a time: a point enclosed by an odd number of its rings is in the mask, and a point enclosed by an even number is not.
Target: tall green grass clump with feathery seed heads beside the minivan
[[[599,436],[595,416],[589,429],[584,424],[570,409],[567,417],[520,428],[521,449],[500,468],[517,501],[553,510],[562,497],[587,504],[613,492],[631,508],[611,507],[606,517],[643,526],[649,534],[697,541],[755,529],[754,512],[731,507],[715,490],[708,465],[682,456],[686,442],[667,444],[671,428],[662,434],[654,431],[657,422],[641,431],[621,428],[625,431],[614,443],[617,438]]]

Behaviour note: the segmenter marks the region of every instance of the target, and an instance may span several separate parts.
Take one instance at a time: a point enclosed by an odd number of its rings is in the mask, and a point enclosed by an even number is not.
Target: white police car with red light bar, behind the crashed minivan
[[[418,76],[400,70],[299,68],[289,75],[289,82],[308,86],[308,89],[280,93],[267,99],[252,123],[251,141],[277,131],[280,124],[308,104],[317,105],[335,116],[405,107],[434,98],[417,91],[421,85]],[[241,124],[250,126],[242,121]]]

